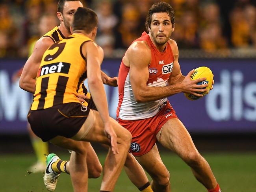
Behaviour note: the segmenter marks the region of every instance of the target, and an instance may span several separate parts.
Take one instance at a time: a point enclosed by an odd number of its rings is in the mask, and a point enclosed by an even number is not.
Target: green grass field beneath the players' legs
[[[69,154],[58,154],[67,159]],[[256,153],[203,153],[219,182],[222,192],[256,192]],[[196,181],[190,168],[176,155],[162,153],[161,157],[171,174],[172,192],[206,192]],[[104,161],[105,154],[99,159]],[[0,192],[46,192],[43,174],[28,174],[26,168],[35,161],[34,155],[0,156]],[[98,192],[101,177],[89,179],[89,192]],[[56,192],[72,192],[70,177],[61,174]],[[124,172],[117,181],[115,192],[139,191]]]

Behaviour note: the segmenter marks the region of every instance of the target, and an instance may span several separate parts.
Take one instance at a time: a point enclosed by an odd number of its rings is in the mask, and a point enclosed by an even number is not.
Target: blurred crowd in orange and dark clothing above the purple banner
[[[174,8],[172,39],[182,49],[205,52],[256,49],[255,0],[164,0]],[[159,0],[84,0],[98,14],[96,42],[106,57],[123,53],[145,31]],[[28,57],[35,40],[59,25],[58,0],[1,0],[0,57]],[[121,55],[122,56],[122,55]]]

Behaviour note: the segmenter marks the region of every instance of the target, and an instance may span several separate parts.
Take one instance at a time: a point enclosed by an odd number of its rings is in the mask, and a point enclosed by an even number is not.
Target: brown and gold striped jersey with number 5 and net
[[[79,102],[78,90],[81,84],[84,87],[82,82],[87,77],[86,59],[82,55],[82,45],[87,41],[92,40],[75,33],[46,50],[37,73],[31,110]]]

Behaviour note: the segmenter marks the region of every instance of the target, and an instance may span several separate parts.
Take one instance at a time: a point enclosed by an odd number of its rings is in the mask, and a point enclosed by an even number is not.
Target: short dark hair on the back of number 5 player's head
[[[78,7],[74,14],[72,30],[84,30],[85,33],[90,33],[98,25],[97,14],[89,8]]]

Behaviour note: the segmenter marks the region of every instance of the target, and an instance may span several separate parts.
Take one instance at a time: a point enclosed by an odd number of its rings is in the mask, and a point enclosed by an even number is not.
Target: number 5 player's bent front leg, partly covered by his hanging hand
[[[111,119],[111,123],[117,135],[119,154],[114,155],[111,149],[109,149],[103,169],[103,178],[100,188],[102,191],[113,191],[117,178],[119,177],[124,165],[132,138],[129,131],[124,129],[115,120]],[[90,127],[89,132],[87,132],[88,127]],[[109,138],[107,138],[104,133],[104,124],[100,118],[100,114],[93,110],[90,110],[87,120],[78,133],[72,138],[75,140],[99,142],[108,145],[110,144]]]

